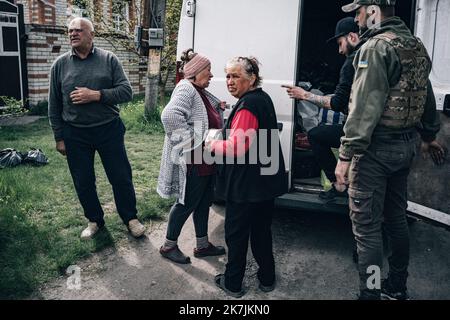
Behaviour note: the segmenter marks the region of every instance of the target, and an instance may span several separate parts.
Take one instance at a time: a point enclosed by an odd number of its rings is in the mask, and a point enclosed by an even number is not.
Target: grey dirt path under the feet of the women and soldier
[[[224,245],[223,207],[210,215],[210,240]],[[81,289],[68,289],[61,277],[36,293],[38,299],[228,299],[213,278],[224,270],[226,257],[192,256],[194,232],[189,220],[179,245],[191,265],[177,265],[159,253],[166,223],[152,225],[146,237],[109,248],[78,264]],[[247,264],[245,299],[354,299],[357,271],[353,239],[346,217],[278,212],[273,223],[278,284],[271,293],[257,286],[257,266]],[[411,226],[409,291],[415,299],[450,299],[450,233],[416,222]],[[233,299],[233,298],[231,298]]]

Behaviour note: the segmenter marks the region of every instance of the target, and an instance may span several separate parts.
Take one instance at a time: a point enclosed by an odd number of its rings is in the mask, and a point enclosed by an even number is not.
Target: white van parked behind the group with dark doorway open
[[[188,16],[187,3],[190,8],[195,4],[195,16]],[[286,170],[290,172],[289,187],[294,187],[293,192],[278,198],[278,202],[290,208],[297,206],[299,210],[308,203],[312,210],[336,212],[339,204],[324,204],[311,194],[297,192],[291,177],[294,101],[280,85],[294,84],[297,80],[303,3],[302,0],[183,0],[177,58],[180,60],[182,51],[188,48],[208,56],[214,75],[208,90],[233,105],[236,99],[228,93],[225,82],[226,62],[235,56],[257,57],[262,63],[262,87],[273,99],[278,121],[283,125],[280,134],[282,150]],[[327,10],[326,6],[323,10]],[[449,16],[449,0],[417,0],[415,33],[433,60],[430,79],[438,110],[443,110],[445,96],[450,94]],[[438,140],[450,149],[450,119],[443,113],[440,116],[442,125]],[[408,198],[411,195],[410,212],[449,226],[450,203],[448,187],[444,186],[448,186],[450,179],[447,179],[449,166],[448,160],[444,166],[436,167],[431,161],[416,157],[409,177],[409,185],[413,186],[408,192]],[[424,185],[428,186],[428,191],[422,190]],[[347,210],[345,204],[340,208]]]

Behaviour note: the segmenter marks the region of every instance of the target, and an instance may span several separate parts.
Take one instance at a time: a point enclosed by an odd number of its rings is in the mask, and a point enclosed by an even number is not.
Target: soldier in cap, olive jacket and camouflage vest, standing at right
[[[342,7],[356,11],[365,42],[353,63],[350,113],[335,172],[338,183],[349,184],[360,299],[408,298],[407,177],[417,131],[424,150],[444,156],[435,140],[440,124],[428,80],[431,61],[420,40],[394,16],[394,5],[395,0],[354,0]],[[383,262],[382,223],[391,256],[388,278],[380,285],[371,276]]]

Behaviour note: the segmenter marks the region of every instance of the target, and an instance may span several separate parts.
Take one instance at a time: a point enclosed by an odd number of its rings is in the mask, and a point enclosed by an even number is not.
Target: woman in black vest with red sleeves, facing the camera
[[[238,57],[226,67],[227,88],[238,98],[224,128],[225,140],[207,143],[206,148],[224,164],[217,177],[217,192],[226,200],[225,241],[228,263],[225,274],[216,276],[218,287],[233,297],[245,294],[248,239],[259,265],[260,289],[275,285],[272,253],[274,199],[287,192],[287,174],[278,137],[272,99],[259,86],[259,62]]]

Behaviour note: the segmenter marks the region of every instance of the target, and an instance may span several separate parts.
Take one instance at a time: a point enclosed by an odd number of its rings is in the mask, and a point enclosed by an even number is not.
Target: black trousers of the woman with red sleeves
[[[275,281],[275,261],[272,252],[272,215],[274,200],[257,203],[227,202],[225,214],[225,242],[228,263],[225,286],[232,291],[242,289],[247,264],[248,239],[258,263],[258,279],[270,286]]]

